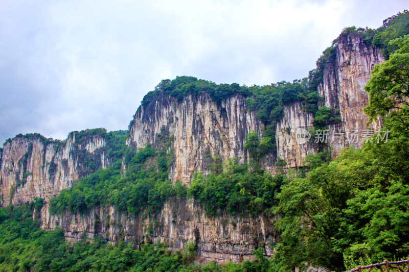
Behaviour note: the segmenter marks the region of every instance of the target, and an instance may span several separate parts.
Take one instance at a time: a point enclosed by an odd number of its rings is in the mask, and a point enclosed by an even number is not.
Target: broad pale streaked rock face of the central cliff
[[[161,95],[146,108],[140,107],[130,127],[128,145],[143,147],[158,144],[157,134],[173,137],[174,163],[170,178],[189,183],[196,171],[209,171],[213,156],[222,161],[236,157],[247,161],[243,144],[247,133],[261,133],[263,125],[255,112],[247,111],[242,96],[233,96],[216,105],[208,94],[187,96],[177,102]]]

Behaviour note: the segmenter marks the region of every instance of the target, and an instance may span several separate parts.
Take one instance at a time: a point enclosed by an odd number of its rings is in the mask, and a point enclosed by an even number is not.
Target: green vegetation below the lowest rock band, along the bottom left
[[[194,264],[196,246],[172,252],[165,244],[149,239],[138,249],[136,244],[115,245],[101,238],[65,242],[59,228],[43,231],[40,221],[33,220],[38,203],[0,208],[0,271],[267,271],[269,262],[261,250],[255,261],[241,264]],[[38,207],[37,207],[38,210]]]

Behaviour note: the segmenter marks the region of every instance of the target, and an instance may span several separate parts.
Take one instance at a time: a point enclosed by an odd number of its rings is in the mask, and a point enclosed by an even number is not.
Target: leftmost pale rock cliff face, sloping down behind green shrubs
[[[76,139],[75,132],[62,142],[40,135],[7,141],[0,161],[2,206],[21,205],[34,197],[48,202],[74,180],[110,164],[104,147],[100,134]]]

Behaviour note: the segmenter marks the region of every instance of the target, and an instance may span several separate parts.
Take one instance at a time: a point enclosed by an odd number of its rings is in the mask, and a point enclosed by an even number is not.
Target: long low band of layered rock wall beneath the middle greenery
[[[272,224],[275,218],[205,216],[201,205],[192,200],[171,200],[153,217],[117,212],[113,207],[96,207],[85,214],[50,215],[42,209],[42,226],[64,230],[69,240],[103,237],[110,241],[124,239],[139,245],[147,237],[153,242],[166,242],[172,250],[183,249],[188,242],[197,244],[201,261],[239,262],[252,259],[258,247],[272,254],[271,241],[277,242]]]

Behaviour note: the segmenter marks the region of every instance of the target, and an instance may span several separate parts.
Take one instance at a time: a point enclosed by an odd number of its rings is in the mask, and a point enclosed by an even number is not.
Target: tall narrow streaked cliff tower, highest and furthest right
[[[339,110],[342,122],[331,125],[330,135],[346,133],[338,140],[330,143],[334,154],[345,146],[361,147],[362,136],[366,130],[379,130],[380,121],[373,122],[367,127],[368,116],[362,108],[368,106],[368,93],[363,86],[371,77],[371,70],[375,64],[384,61],[377,48],[367,45],[357,34],[341,35],[335,46],[335,60],[329,61],[324,69],[323,81],[319,85],[319,92],[324,96],[325,106]],[[352,133],[360,136],[359,139]]]

